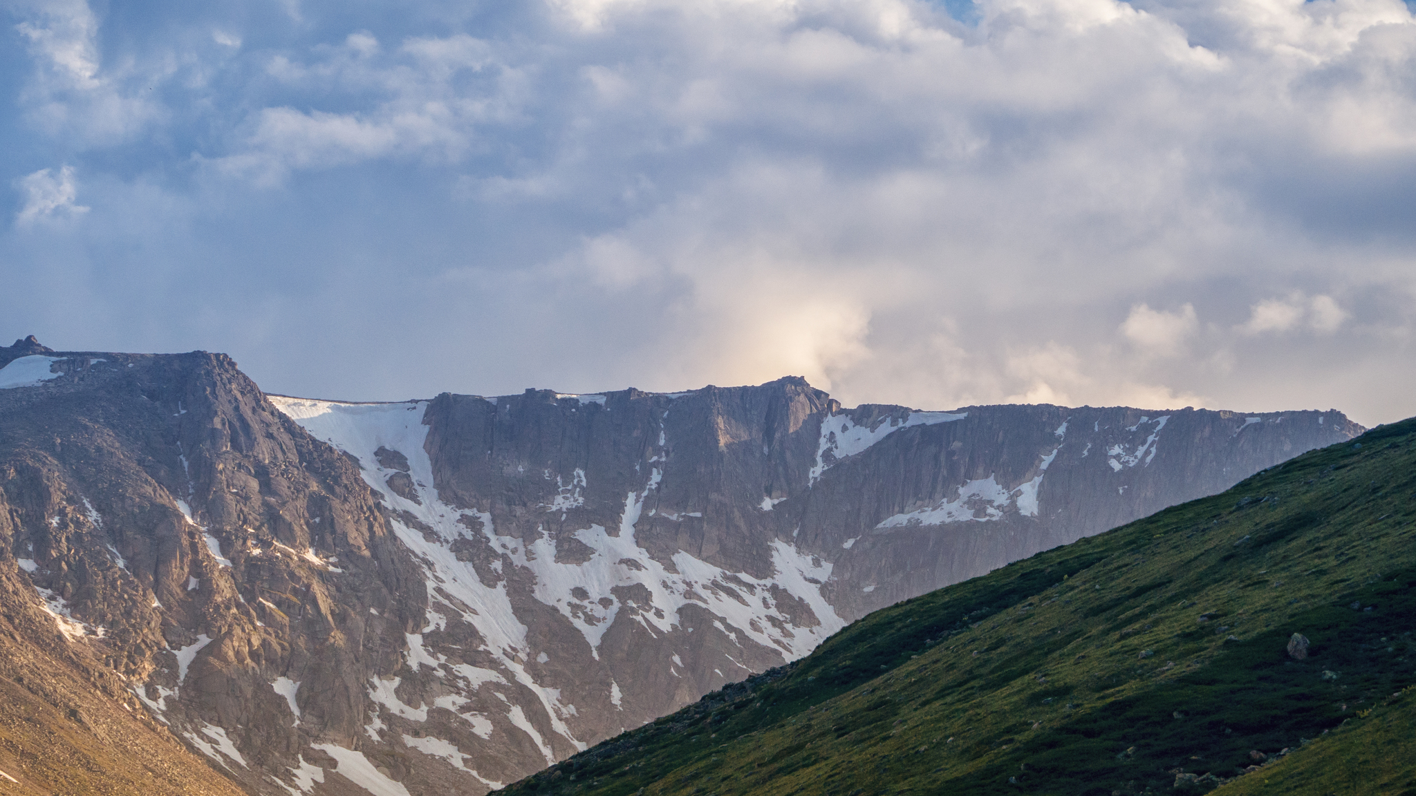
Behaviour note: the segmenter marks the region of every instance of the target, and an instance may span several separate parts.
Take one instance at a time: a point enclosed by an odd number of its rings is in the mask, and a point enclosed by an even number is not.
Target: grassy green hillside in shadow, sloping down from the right
[[[875,612],[504,793],[1416,796],[1413,630],[1416,419]]]

